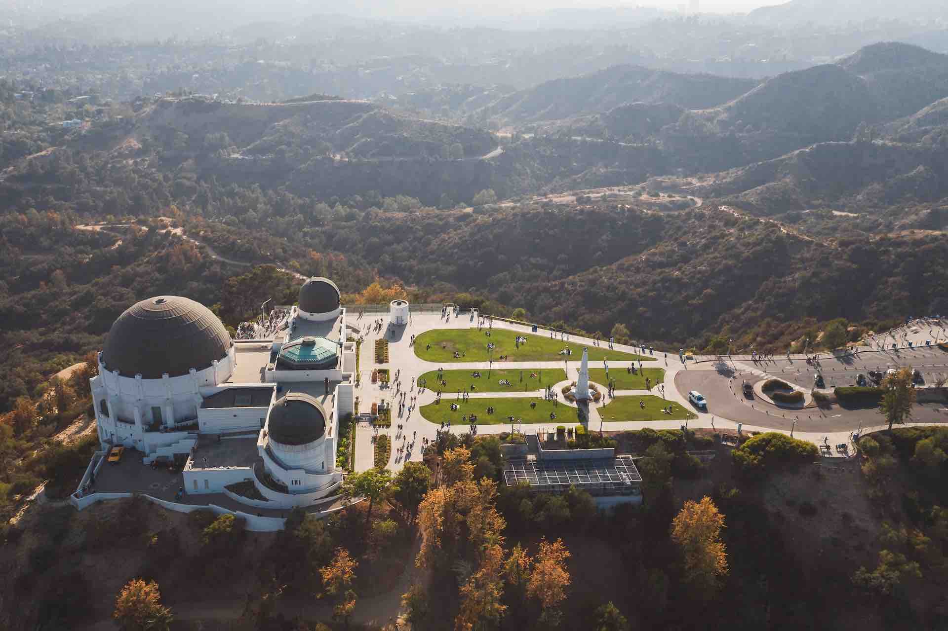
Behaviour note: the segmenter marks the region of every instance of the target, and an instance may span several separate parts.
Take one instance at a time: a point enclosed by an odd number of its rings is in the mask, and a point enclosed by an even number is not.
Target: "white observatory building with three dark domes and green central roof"
[[[356,365],[339,300],[332,280],[307,279],[298,304],[242,325],[258,334],[240,340],[187,297],[132,305],[112,325],[90,380],[102,449],[123,446],[125,459],[142,464],[178,463],[188,495],[276,509],[332,497]],[[240,482],[265,500],[228,490]]]

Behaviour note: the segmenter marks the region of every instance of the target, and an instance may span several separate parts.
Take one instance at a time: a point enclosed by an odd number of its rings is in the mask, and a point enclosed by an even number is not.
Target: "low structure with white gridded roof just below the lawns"
[[[638,487],[642,481],[630,456],[588,460],[507,460],[503,479],[508,486],[528,482],[538,491],[550,487],[603,487],[619,490]],[[544,488],[546,487],[546,488]]]

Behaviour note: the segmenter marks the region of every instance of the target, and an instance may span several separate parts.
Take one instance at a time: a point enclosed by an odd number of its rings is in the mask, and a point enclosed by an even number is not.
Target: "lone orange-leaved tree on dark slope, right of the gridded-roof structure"
[[[720,540],[724,515],[710,497],[701,502],[688,500],[671,522],[671,538],[684,556],[685,581],[710,597],[727,574],[727,553]]]

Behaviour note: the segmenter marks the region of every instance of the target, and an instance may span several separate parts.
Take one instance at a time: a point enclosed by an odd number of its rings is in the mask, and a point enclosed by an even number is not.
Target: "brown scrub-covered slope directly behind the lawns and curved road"
[[[780,351],[781,338],[794,331],[790,323],[807,318],[948,308],[940,289],[948,282],[943,234],[821,243],[717,207],[663,224],[662,238],[639,254],[568,278],[519,283],[517,297],[513,287],[498,295],[587,331],[623,322],[635,338],[656,345],[718,331]],[[908,275],[933,281],[906,283]]]

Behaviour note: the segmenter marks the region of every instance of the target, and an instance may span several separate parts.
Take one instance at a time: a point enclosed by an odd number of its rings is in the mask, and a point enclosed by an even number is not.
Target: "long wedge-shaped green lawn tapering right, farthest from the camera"
[[[490,335],[488,336],[487,333]],[[518,335],[527,338],[527,341],[517,348]],[[501,355],[508,356],[509,361],[541,361],[556,362],[569,359],[578,362],[583,358],[583,346],[575,342],[566,342],[559,339],[550,339],[542,334],[519,334],[506,329],[478,331],[477,329],[435,329],[418,335],[415,338],[415,354],[429,362],[485,362],[489,358],[487,343],[494,344],[492,356],[494,361],[500,361]],[[428,349],[430,345],[430,349]],[[567,356],[559,352],[569,347],[573,354]],[[610,351],[605,347],[591,346],[590,361],[630,361],[642,359],[654,361],[654,357],[636,355],[630,352]],[[460,353],[455,357],[454,353]]]

